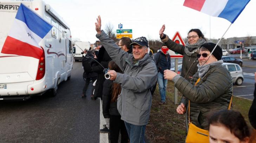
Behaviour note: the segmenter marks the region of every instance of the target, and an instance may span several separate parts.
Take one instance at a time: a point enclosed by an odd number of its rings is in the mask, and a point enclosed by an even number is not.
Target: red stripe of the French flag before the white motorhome
[[[15,54],[39,59],[42,55],[42,49],[24,43],[20,40],[7,36],[1,53]]]

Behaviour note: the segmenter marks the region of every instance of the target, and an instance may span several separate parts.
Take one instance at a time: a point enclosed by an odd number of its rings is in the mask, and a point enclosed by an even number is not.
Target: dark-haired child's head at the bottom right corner
[[[221,110],[209,118],[210,143],[248,143],[250,132],[241,113]]]

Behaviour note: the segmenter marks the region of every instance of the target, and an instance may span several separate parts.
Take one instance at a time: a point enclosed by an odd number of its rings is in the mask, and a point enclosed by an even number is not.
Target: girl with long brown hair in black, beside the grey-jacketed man
[[[114,61],[109,62],[109,69],[115,70],[117,73],[122,73],[122,70]],[[111,80],[105,80],[103,85],[103,116],[110,118],[109,130],[111,143],[118,142],[119,131],[121,133],[121,143],[128,142],[128,134],[125,128],[124,121],[121,120],[121,115],[117,110],[117,97],[121,93],[121,85],[113,83]]]

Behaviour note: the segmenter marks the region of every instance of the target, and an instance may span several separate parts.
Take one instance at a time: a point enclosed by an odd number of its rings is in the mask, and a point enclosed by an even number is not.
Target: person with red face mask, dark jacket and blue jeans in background
[[[157,65],[157,83],[161,95],[160,105],[165,104],[167,80],[164,79],[164,70],[171,68],[171,57],[168,53],[169,48],[163,43],[162,48],[155,54],[155,61]]]

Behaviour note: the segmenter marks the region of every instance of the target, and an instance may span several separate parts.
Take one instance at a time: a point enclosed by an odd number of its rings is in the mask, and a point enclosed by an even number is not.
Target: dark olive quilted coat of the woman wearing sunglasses
[[[206,129],[209,114],[228,109],[232,96],[233,83],[228,70],[221,64],[209,67],[198,82],[198,72],[191,81],[179,77],[175,87],[190,100],[190,121],[199,128]]]

